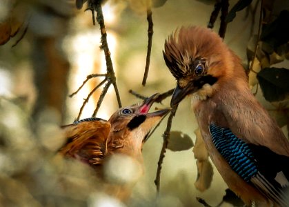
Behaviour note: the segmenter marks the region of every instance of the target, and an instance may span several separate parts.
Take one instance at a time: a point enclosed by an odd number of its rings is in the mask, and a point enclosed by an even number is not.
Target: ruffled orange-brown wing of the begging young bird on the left
[[[107,151],[110,122],[99,118],[87,118],[63,126],[66,144],[59,152],[91,165],[102,164]]]

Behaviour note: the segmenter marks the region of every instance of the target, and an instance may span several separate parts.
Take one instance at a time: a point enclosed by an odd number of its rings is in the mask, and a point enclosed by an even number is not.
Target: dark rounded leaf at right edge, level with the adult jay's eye
[[[263,96],[267,101],[281,101],[289,92],[289,70],[264,68],[257,74]]]

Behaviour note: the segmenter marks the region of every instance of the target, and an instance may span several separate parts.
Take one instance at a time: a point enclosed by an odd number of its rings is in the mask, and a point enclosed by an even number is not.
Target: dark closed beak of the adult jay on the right
[[[170,100],[170,106],[176,106],[181,100],[183,100],[186,95],[192,94],[198,90],[197,87],[194,87],[192,84],[188,84],[185,88],[180,88],[179,85],[175,88],[172,93],[172,99]]]

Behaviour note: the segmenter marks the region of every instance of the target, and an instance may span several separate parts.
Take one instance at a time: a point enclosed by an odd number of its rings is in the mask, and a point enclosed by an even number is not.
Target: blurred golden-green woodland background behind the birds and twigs
[[[123,106],[141,101],[128,92],[130,89],[148,97],[175,87],[175,79],[163,61],[164,40],[180,26],[206,27],[216,3],[213,0],[159,2],[161,6],[152,8],[154,34],[145,87],[141,81],[148,46],[146,1],[103,2],[108,46]],[[229,1],[229,10],[237,2]],[[224,38],[247,70],[255,51],[260,3],[254,0],[237,12],[235,19],[228,23]],[[77,95],[71,98],[68,95],[81,86],[87,75],[106,73],[106,60],[99,48],[99,25],[92,25],[92,13],[85,12],[86,8],[85,3],[77,10],[72,0],[0,0],[3,44],[0,46],[0,206],[202,206],[196,197],[217,206],[228,187],[214,167],[212,173],[210,164],[203,168],[208,171],[203,172],[205,175],[199,180],[199,185],[205,187],[195,187],[198,170],[192,144],[186,150],[167,150],[161,170],[160,195],[156,199],[154,180],[167,119],[143,147],[145,175],[126,204],[99,193],[86,166],[54,159],[63,144],[59,126],[76,119],[83,100],[103,77],[90,79]],[[266,8],[270,11],[270,23],[279,17],[281,10],[289,8],[289,3],[272,1]],[[213,28],[216,32],[219,23],[218,17]],[[268,67],[289,68],[288,40],[285,45],[282,45],[283,53],[263,47],[265,52],[257,54],[253,69],[259,72]],[[268,101],[263,97],[256,72],[248,70],[248,75],[252,92],[256,92],[288,136],[287,93],[281,100]],[[285,90],[288,92],[288,87]],[[100,93],[101,88],[90,97],[81,118],[92,116]],[[170,97],[156,106],[168,107],[169,103]],[[110,86],[97,117],[108,119],[117,108],[117,98]],[[172,130],[185,133],[195,143],[198,126],[188,108],[190,99],[185,99],[172,121]]]

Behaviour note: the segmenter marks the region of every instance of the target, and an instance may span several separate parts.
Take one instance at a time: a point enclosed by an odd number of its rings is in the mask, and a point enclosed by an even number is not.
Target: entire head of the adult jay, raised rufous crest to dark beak
[[[163,58],[177,79],[172,106],[198,91],[199,99],[210,97],[218,84],[235,74],[235,65],[240,63],[218,34],[198,26],[173,32],[165,41]],[[242,79],[246,78],[243,74]]]

